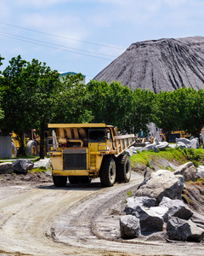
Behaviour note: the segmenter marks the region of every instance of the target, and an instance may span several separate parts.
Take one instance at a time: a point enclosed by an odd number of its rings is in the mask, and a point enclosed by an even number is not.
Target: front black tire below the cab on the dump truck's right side
[[[106,156],[100,167],[100,182],[103,187],[111,187],[116,181],[116,162],[112,157]]]

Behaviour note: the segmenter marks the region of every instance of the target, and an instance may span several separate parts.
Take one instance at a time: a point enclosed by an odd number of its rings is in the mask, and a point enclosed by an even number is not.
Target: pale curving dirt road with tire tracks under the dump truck
[[[131,183],[24,183],[0,188],[0,255],[204,255],[201,243],[122,241],[119,213]]]

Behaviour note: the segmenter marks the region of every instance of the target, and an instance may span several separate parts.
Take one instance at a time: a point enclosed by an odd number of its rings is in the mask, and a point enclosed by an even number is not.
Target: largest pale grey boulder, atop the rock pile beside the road
[[[184,177],[174,175],[167,170],[153,172],[148,180],[136,192],[136,196],[149,196],[156,198],[156,205],[159,205],[164,196],[170,199],[181,199],[184,189]]]

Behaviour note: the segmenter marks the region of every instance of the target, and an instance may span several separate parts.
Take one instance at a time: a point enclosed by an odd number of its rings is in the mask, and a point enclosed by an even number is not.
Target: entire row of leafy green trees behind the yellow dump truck
[[[0,66],[2,61],[0,56]],[[59,80],[59,73],[46,63],[28,62],[20,55],[12,58],[0,76],[1,134],[14,131],[20,137],[20,153],[25,154],[24,134],[35,128],[43,158],[48,123],[103,122],[136,134],[154,122],[167,140],[177,129],[199,137],[204,126],[204,90],[181,88],[155,95],[150,90],[130,90],[116,81],[92,80],[88,85],[81,81],[81,73]]]

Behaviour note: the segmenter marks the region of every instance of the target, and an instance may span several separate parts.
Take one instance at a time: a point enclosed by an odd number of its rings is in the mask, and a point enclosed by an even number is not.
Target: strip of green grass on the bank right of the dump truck
[[[139,152],[138,154],[133,154],[130,157],[131,165],[135,166],[137,164],[148,166],[151,168],[150,162],[160,159],[166,159],[170,162],[177,162],[182,165],[188,161],[192,161],[195,166],[200,166],[202,160],[204,159],[204,149],[198,148],[166,148],[164,151],[155,153],[153,150]],[[163,167],[163,166],[161,166]]]

